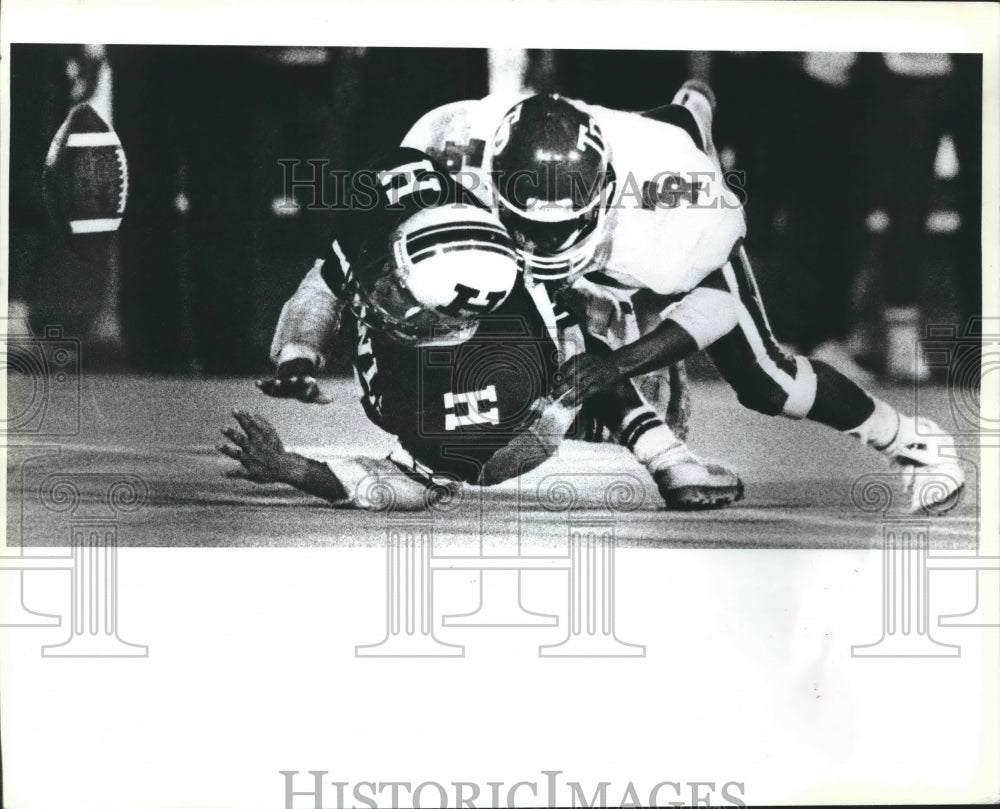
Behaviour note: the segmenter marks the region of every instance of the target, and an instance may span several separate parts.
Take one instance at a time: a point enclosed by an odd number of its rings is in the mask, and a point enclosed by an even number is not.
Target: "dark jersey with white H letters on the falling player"
[[[352,199],[336,214],[335,239],[322,267],[327,285],[345,301],[352,265],[386,250],[408,217],[452,202],[483,207],[414,149],[395,150],[358,172],[350,188]],[[474,278],[475,267],[469,272]],[[552,387],[558,367],[556,345],[521,278],[465,342],[400,342],[350,311],[344,327],[355,332],[353,362],[368,417],[434,473],[467,482],[534,422],[534,405]]]

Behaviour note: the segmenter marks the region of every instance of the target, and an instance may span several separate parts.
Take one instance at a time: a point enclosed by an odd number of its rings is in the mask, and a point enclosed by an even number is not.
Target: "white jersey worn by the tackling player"
[[[501,119],[524,97],[496,94],[446,104],[417,121],[402,145],[443,162],[491,205],[483,166]],[[600,247],[586,271],[602,270],[631,289],[689,292],[746,234],[742,207],[719,166],[678,126],[574,103],[603,131],[616,177]]]

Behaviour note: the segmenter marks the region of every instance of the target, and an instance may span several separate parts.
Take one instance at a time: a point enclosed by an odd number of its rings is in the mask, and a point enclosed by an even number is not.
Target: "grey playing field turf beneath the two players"
[[[326,406],[276,401],[251,380],[150,379],[89,375],[81,381],[81,429],[59,438],[8,440],[8,544],[65,544],[65,517],[44,502],[53,473],[74,475],[84,499],[103,497],[106,474],[130,473],[148,486],[146,505],[124,514],[122,546],[368,546],[384,541],[381,513],[334,509],[287,486],[256,486],[225,478],[234,463],[214,449],[219,428],[243,408],[272,421],[287,447],[316,458],[384,455],[391,439],[365,418],[351,380],[326,383]],[[11,375],[9,412],[30,395]],[[856,441],[807,422],[771,419],[741,407],[720,383],[692,386],[692,448],[740,470],[745,499],[701,513],[668,512],[645,471],[614,445],[566,442],[557,457],[519,481],[489,489],[466,487],[461,502],[435,519],[439,539],[497,545],[565,538],[574,520],[610,517],[622,546],[863,548],[877,546],[881,512],[852,499],[862,476],[882,474],[887,462]],[[914,392],[876,393],[904,410]],[[921,391],[924,415],[953,425],[944,388]],[[968,489],[962,503],[931,523],[934,547],[974,548],[977,479],[974,449],[960,448]],[[865,480],[870,480],[866,477]],[[608,511],[605,492],[619,482],[638,492],[628,510]],[[575,505],[554,505],[568,483]],[[862,481],[864,483],[864,481]],[[859,484],[860,486],[861,484]],[[553,488],[553,487],[556,488]],[[855,496],[860,491],[855,487]],[[896,502],[906,498],[896,490]]]

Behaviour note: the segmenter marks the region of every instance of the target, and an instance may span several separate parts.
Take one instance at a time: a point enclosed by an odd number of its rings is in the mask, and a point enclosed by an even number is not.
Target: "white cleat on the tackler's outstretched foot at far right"
[[[955,440],[933,421],[901,416],[895,439],[882,452],[902,474],[912,512],[937,516],[958,505],[965,473],[955,455]]]

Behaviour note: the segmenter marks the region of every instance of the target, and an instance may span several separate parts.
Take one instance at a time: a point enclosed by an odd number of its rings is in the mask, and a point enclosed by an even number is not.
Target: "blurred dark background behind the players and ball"
[[[309,159],[351,168],[424,112],[491,91],[644,110],[691,76],[718,96],[724,166],[745,172],[779,339],[857,373],[929,375],[924,326],[981,310],[976,54],[14,45],[11,317],[80,337],[89,370],[259,373],[329,236],[307,190],[284,199],[279,161],[303,161],[297,179]],[[41,194],[48,144],[83,100],[129,159],[101,267],[51,238]]]

